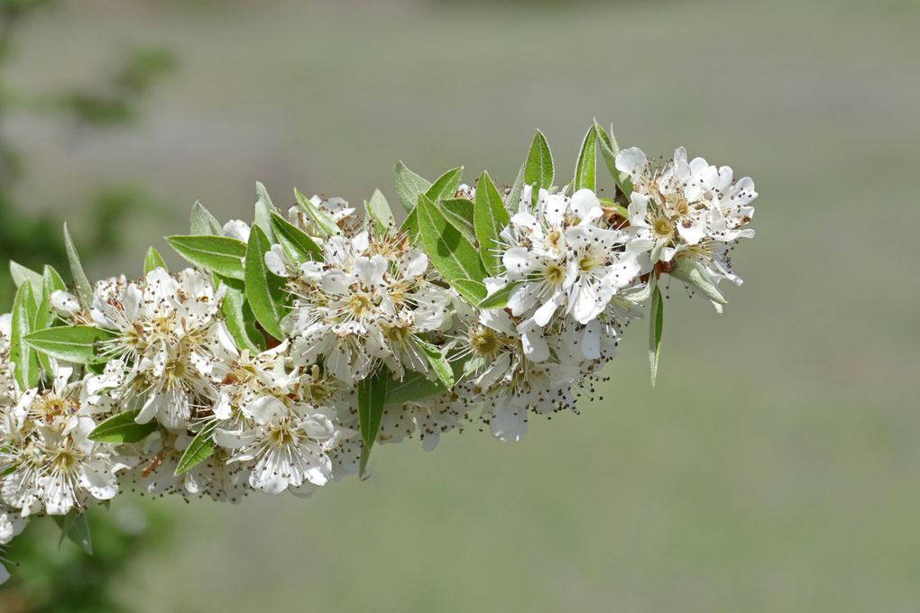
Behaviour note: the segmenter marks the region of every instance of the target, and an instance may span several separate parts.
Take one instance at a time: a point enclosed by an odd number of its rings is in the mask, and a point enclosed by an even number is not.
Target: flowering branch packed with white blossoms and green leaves
[[[51,267],[20,278],[0,316],[0,544],[124,489],[309,495],[363,473],[374,443],[430,449],[477,422],[517,440],[576,410],[646,303],[661,325],[665,278],[721,308],[756,196],[684,149],[654,163],[589,136],[566,187],[538,133],[504,194],[398,164],[398,225],[380,192],[363,215],[300,192],[282,211],[259,185],[254,223],[196,205],[167,239],[193,268],[151,248],[141,279],[90,284],[76,258],[72,287]]]

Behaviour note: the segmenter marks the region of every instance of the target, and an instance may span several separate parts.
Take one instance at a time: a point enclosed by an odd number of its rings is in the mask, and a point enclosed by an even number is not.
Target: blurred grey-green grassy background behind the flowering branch
[[[725,314],[671,292],[655,389],[637,324],[604,402],[520,444],[474,429],[431,454],[380,448],[369,482],[306,502],[162,501],[172,527],[151,538],[168,545],[126,560],[111,596],[177,613],[917,610],[918,30],[915,0],[81,0],[29,21],[17,88],[93,82],[138,44],[178,58],[130,129],[6,119],[23,210],[92,236],[100,186],[157,203],[98,277],[140,274],[195,199],[248,219],[257,179],[276,203],[294,185],[392,194],[399,158],[511,181],[535,127],[568,174],[595,116],[761,194]]]

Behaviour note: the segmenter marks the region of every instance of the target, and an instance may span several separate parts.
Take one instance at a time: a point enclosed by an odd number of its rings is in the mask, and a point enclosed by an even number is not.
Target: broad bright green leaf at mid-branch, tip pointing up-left
[[[425,250],[441,276],[449,283],[464,278],[482,281],[487,273],[477,248],[444,218],[443,212],[424,194],[419,197],[418,211]]]

